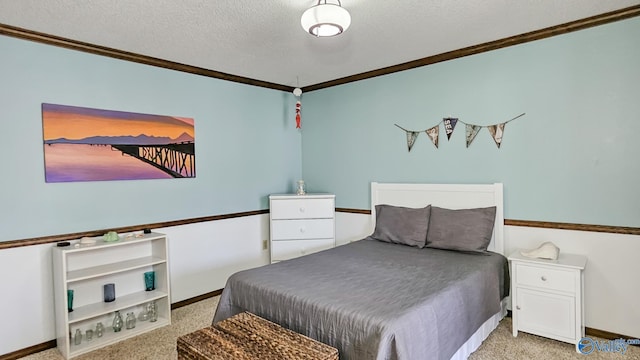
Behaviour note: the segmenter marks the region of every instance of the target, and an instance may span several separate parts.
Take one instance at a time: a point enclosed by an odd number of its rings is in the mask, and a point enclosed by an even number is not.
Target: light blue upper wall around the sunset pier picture
[[[293,190],[293,95],[0,36],[0,241],[268,208]],[[45,183],[41,103],[191,117],[196,178]]]

